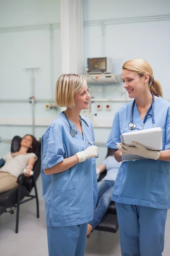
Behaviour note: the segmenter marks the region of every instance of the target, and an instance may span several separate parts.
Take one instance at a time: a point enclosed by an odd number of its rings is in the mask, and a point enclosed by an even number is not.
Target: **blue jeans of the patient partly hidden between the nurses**
[[[94,218],[88,222],[93,229],[100,223],[111,203],[114,180],[101,180],[98,182],[98,200],[94,210]]]

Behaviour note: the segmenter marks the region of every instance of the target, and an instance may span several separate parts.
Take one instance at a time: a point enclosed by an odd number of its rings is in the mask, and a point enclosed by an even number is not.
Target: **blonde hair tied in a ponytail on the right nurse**
[[[145,73],[149,74],[149,89],[155,96],[163,97],[162,87],[158,80],[153,78],[153,70],[150,67],[150,64],[147,63],[142,58],[135,58],[130,61],[126,61],[123,64],[122,69],[127,69],[134,71],[139,74],[139,76],[144,76]]]

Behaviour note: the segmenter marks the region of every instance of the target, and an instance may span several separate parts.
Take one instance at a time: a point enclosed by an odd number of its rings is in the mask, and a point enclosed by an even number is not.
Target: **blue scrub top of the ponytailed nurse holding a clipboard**
[[[135,104],[133,122],[136,129],[130,131],[132,102],[123,105],[116,112],[107,147],[116,148],[121,143],[122,133],[142,130],[143,120]],[[160,96],[154,102],[155,127],[162,129],[162,150],[170,149],[170,102]],[[153,128],[152,117],[148,116],[144,129]],[[146,207],[170,208],[170,162],[143,159],[122,162],[113,188],[112,200],[118,203]]]

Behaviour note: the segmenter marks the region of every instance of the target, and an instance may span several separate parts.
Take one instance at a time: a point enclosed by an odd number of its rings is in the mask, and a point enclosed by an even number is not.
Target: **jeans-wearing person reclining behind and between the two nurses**
[[[88,223],[87,238],[90,237],[92,230],[100,223],[111,203],[114,182],[121,163],[118,163],[113,156],[107,157],[96,169],[96,174],[107,171],[105,177],[98,182],[98,200],[94,210],[94,218]]]

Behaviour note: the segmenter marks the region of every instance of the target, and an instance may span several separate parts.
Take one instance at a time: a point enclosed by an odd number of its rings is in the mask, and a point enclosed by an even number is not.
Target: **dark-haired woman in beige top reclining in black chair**
[[[0,159],[0,193],[18,186],[17,177],[23,173],[29,177],[34,163],[37,140],[32,135],[25,135],[20,142],[20,149],[15,153],[9,152]]]

